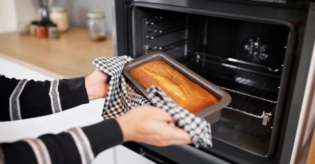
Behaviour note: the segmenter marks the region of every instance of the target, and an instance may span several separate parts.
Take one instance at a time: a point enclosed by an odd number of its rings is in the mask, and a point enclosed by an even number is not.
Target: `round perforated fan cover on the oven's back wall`
[[[268,47],[259,37],[250,37],[242,41],[239,47],[243,61],[261,64],[268,58]]]

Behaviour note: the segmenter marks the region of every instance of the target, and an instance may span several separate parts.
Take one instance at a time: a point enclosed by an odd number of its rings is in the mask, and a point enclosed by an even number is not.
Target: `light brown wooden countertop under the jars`
[[[95,58],[112,54],[111,35],[105,41],[93,42],[84,29],[72,28],[57,40],[20,36],[17,32],[0,34],[0,57],[55,78],[87,76],[95,70]]]

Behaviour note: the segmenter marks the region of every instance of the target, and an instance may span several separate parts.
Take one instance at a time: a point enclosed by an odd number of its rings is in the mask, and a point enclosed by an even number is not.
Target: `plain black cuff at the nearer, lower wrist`
[[[100,152],[123,143],[123,132],[116,119],[106,119],[100,123],[83,127],[95,156]]]

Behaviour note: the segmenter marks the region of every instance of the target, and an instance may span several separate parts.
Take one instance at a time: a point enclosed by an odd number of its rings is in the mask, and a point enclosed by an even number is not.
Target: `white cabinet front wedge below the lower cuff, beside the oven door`
[[[116,164],[156,164],[128,148],[116,146]]]

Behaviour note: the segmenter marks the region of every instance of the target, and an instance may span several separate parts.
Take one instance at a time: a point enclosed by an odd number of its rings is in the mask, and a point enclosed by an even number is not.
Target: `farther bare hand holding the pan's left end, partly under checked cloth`
[[[110,79],[111,76],[97,68],[89,76],[85,77],[85,88],[88,92],[89,101],[106,97]]]

